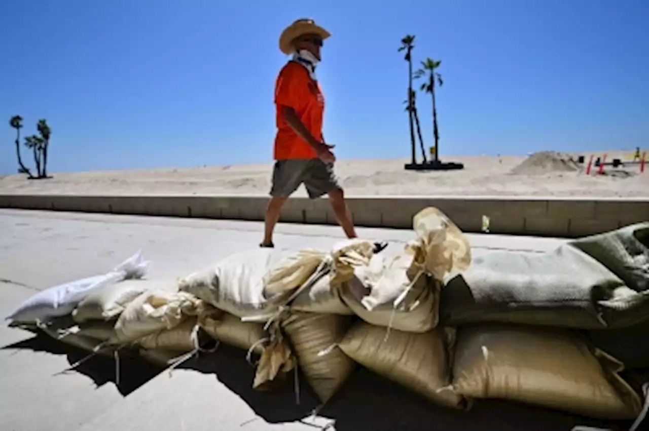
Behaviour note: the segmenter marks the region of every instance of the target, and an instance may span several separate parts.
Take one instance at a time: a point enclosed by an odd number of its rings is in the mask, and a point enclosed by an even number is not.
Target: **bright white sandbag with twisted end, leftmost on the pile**
[[[70,314],[77,304],[96,289],[130,278],[141,278],[149,269],[141,251],[116,266],[111,272],[95,275],[38,292],[19,305],[7,320],[16,322],[48,321]]]

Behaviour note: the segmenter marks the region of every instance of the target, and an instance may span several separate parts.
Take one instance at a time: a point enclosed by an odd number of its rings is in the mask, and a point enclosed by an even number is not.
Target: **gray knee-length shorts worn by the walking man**
[[[288,198],[302,183],[312,199],[340,189],[333,164],[326,165],[320,159],[290,159],[275,162],[271,196]]]

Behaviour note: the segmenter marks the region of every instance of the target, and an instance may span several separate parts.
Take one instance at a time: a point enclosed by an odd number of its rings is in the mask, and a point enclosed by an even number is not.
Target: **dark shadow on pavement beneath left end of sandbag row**
[[[36,332],[32,338],[6,345],[2,349],[31,350],[51,353],[52,355],[66,355],[67,363],[70,366],[91,355],[86,350],[56,340],[43,332]],[[62,369],[61,371],[64,373],[65,370]],[[117,378],[117,371],[119,371],[119,378]],[[129,351],[124,351],[119,354],[119,367],[117,367],[116,360],[112,355],[94,355],[65,372],[76,372],[90,377],[98,388],[106,383],[116,384],[119,393],[126,396],[158,375],[160,368],[145,362],[137,356],[133,356]]]

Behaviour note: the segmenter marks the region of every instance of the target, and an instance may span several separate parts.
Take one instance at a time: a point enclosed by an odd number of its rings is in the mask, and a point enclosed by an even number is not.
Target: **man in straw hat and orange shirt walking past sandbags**
[[[282,67],[275,84],[275,167],[261,247],[274,246],[273,231],[282,206],[302,183],[312,199],[328,194],[345,235],[356,238],[345,194],[334,174],[334,146],[324,142],[322,133],[324,96],[315,69],[329,36],[312,19],[298,19],[280,36],[280,51],[293,58]]]

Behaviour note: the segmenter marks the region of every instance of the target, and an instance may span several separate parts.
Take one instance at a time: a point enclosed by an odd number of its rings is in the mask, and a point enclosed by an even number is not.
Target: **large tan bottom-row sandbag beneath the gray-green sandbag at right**
[[[598,357],[600,360],[598,360]],[[633,419],[641,401],[622,368],[569,330],[480,325],[458,331],[455,390],[603,419]]]

